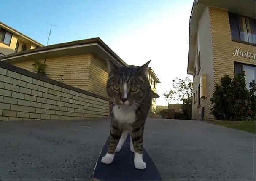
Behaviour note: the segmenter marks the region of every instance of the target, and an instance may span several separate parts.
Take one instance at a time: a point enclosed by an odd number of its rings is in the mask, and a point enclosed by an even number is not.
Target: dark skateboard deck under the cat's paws
[[[139,170],[134,166],[134,153],[130,151],[130,136],[119,152],[116,152],[113,162],[109,165],[101,162],[101,158],[108,152],[108,140],[106,141],[100,156],[96,162],[93,178],[96,181],[162,181],[153,160],[149,157],[145,148],[143,161],[146,169]]]

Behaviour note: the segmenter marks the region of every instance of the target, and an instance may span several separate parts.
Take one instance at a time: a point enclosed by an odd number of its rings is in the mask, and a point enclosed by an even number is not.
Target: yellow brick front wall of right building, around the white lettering
[[[232,41],[227,10],[212,7],[209,9],[213,37],[213,69],[215,83],[219,83],[221,77],[225,74],[234,77],[234,61],[251,65],[256,64],[256,60],[253,59],[234,57],[232,55],[234,47],[241,47],[242,50],[249,49],[249,52],[255,52],[256,47]]]

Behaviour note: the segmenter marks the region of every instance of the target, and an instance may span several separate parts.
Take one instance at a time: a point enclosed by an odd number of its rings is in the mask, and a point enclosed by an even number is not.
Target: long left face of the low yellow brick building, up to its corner
[[[91,54],[62,56],[46,60],[46,76],[50,79],[90,91],[92,80],[89,79]],[[44,60],[38,60],[43,62]],[[12,61],[11,64],[23,69],[34,71],[35,60]],[[61,76],[63,75],[61,79]]]

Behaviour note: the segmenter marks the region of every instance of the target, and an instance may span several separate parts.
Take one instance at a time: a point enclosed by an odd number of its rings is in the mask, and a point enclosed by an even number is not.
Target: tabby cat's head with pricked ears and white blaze
[[[148,83],[145,72],[149,62],[138,68],[118,67],[108,62],[107,93],[115,104],[137,107],[143,100]]]

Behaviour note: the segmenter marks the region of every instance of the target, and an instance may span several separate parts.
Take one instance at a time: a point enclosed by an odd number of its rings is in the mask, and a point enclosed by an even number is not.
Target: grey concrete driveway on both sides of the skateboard
[[[91,180],[109,127],[109,119],[0,122],[0,181]],[[163,179],[252,181],[255,138],[205,122],[148,119],[144,146]]]

